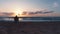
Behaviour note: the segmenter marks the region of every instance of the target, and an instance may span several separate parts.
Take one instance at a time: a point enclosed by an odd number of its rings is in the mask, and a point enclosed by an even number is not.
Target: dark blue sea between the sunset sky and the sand
[[[0,21],[14,21],[14,18],[1,18]],[[60,21],[60,17],[30,17],[30,18],[19,18],[22,22],[45,22],[45,21]]]

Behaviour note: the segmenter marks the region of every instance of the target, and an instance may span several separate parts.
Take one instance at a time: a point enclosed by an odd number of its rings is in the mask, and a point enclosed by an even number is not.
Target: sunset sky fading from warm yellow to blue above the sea
[[[29,14],[29,12],[50,12]],[[27,12],[28,14],[23,14]],[[60,0],[0,0],[0,16],[60,16]]]

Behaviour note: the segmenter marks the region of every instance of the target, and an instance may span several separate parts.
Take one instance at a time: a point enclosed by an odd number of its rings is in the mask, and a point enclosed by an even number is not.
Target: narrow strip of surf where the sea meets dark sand
[[[13,23],[14,21],[0,21],[2,23]],[[19,22],[60,22],[60,20],[21,20]]]

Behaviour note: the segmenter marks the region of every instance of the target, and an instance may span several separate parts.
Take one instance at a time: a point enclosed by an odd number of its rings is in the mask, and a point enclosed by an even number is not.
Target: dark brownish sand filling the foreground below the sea
[[[60,34],[60,22],[0,22],[0,34]]]

